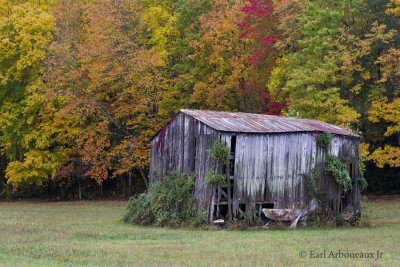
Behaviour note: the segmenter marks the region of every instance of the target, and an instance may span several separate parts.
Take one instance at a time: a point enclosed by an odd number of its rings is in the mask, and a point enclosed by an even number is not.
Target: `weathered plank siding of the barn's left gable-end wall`
[[[217,138],[217,131],[190,116],[178,114],[152,140],[150,182],[171,172],[192,174],[196,178],[196,207],[208,211],[213,188],[204,184],[204,178],[209,170],[216,168],[209,150]]]

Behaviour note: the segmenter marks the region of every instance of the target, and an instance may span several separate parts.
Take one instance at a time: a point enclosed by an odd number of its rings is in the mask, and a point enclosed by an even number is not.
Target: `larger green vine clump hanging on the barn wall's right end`
[[[350,191],[352,189],[352,181],[346,165],[335,155],[328,155],[325,164],[325,170],[333,175],[338,185],[343,186],[343,191]]]

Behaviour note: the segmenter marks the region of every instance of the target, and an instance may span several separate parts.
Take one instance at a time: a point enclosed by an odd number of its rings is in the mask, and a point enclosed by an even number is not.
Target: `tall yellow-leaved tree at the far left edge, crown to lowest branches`
[[[45,10],[15,4],[0,21],[0,143],[10,161],[8,183],[15,186],[40,185],[60,166],[58,155],[46,150],[53,136],[42,118],[51,113],[42,71],[55,31],[54,17]]]

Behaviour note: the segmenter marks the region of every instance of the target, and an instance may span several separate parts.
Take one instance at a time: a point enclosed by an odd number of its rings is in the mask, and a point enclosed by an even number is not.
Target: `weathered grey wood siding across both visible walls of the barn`
[[[333,154],[352,163],[353,191],[348,194],[354,205],[359,205],[358,139],[334,136],[328,150],[317,145],[314,132],[299,133],[226,133],[218,132],[185,114],[178,114],[152,141],[150,179],[154,181],[177,171],[196,177],[197,208],[212,212],[213,188],[204,184],[209,170],[216,163],[209,149],[217,139],[228,147],[236,136],[234,161],[233,211],[240,204],[247,209],[270,203],[274,208],[303,208],[307,205],[304,175],[313,168],[320,170],[317,180],[320,192],[326,194],[334,210],[340,208],[340,188],[325,171],[325,158]]]

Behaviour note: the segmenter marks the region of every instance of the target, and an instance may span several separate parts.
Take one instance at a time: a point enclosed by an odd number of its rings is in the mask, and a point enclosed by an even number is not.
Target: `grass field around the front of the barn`
[[[125,202],[3,202],[0,266],[400,266],[400,197],[367,203],[369,228],[203,231],[124,225]]]

